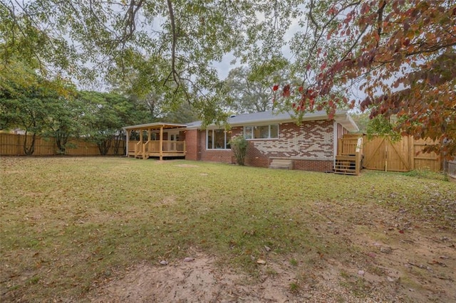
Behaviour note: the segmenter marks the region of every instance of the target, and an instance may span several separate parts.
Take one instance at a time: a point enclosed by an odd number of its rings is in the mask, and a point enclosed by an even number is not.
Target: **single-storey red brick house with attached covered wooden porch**
[[[160,159],[185,156],[188,160],[234,163],[228,142],[232,137],[243,134],[249,142],[245,161],[248,166],[269,167],[274,160],[286,159],[293,169],[332,171],[338,139],[343,134],[358,130],[346,111],[337,111],[333,119],[328,119],[326,112],[306,113],[299,125],[289,113],[271,111],[233,115],[228,123],[231,126],[229,131],[216,125],[202,129],[201,122],[125,127],[128,134],[127,156],[143,159],[160,155]],[[129,139],[131,131],[140,133],[139,141]],[[162,151],[158,148],[160,146]]]

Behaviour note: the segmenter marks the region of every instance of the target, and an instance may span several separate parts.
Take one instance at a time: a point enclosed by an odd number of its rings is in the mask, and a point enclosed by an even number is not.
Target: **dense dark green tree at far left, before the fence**
[[[64,150],[64,138],[75,124],[64,112],[64,104],[70,104],[66,83],[48,81],[19,61],[1,68],[0,80],[0,129],[19,128],[31,134],[30,141],[28,137],[24,141],[27,155],[34,152],[36,135],[58,133],[58,149]]]

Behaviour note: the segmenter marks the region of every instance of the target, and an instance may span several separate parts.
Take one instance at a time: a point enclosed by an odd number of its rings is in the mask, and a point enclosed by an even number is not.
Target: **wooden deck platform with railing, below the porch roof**
[[[185,141],[162,141],[162,150],[160,150],[160,141],[148,142],[128,142],[128,156],[139,159],[150,157],[168,157],[168,156],[185,156]]]

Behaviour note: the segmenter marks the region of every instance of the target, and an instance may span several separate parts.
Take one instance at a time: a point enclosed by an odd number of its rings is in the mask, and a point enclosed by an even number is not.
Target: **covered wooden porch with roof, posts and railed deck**
[[[163,140],[164,129],[185,129],[185,124],[154,122],[147,124],[131,125],[123,127],[127,133],[127,151],[126,156],[135,156],[135,158],[147,159],[150,156],[185,156],[185,141]],[[130,132],[139,132],[140,140],[130,144]],[[152,132],[158,131],[159,140],[152,140]],[[143,136],[147,132],[147,140]]]

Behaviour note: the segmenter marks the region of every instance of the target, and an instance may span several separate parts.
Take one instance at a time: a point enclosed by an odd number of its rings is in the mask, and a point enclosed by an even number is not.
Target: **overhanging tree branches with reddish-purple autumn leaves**
[[[331,114],[355,105],[334,94],[354,87],[372,118],[395,115],[396,131],[435,140],[428,151],[456,155],[456,1],[310,1],[307,16],[306,51],[316,55],[299,64],[312,85],[276,95],[299,99],[303,111],[330,97]],[[296,37],[295,50],[303,43]]]

